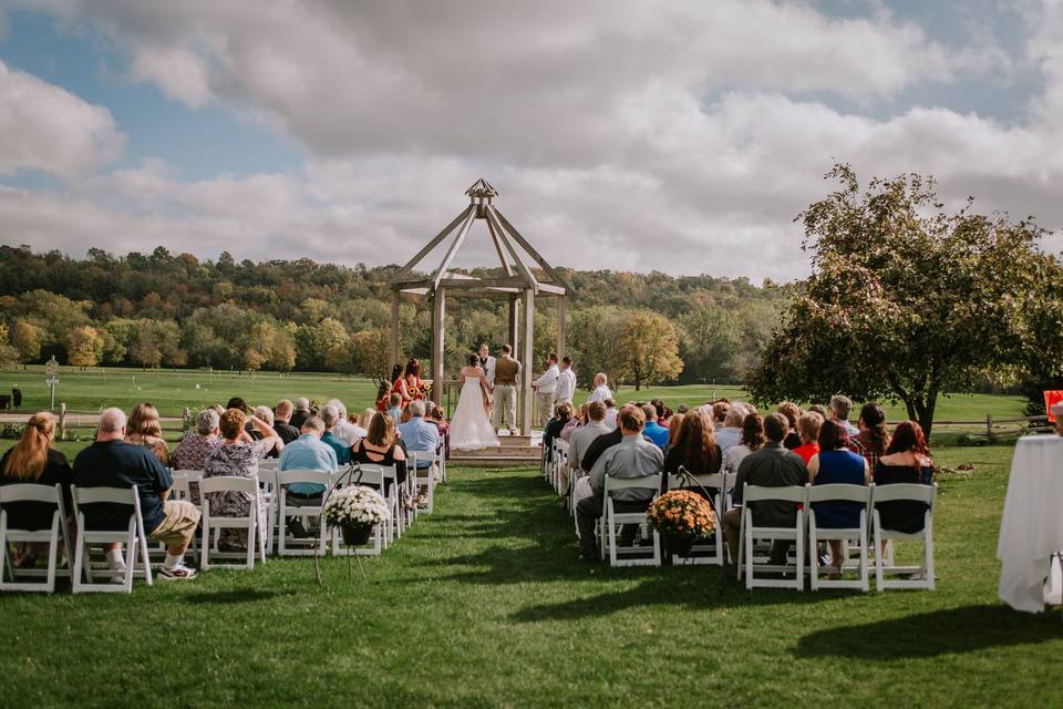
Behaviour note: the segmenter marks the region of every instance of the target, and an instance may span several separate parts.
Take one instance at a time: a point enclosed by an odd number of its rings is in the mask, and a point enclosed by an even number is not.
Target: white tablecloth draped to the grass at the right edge
[[[1011,462],[997,558],[1000,599],[1015,610],[1040,613],[1053,554],[1063,549],[1063,438],[1028,435]],[[1055,589],[1059,593],[1059,589]]]

